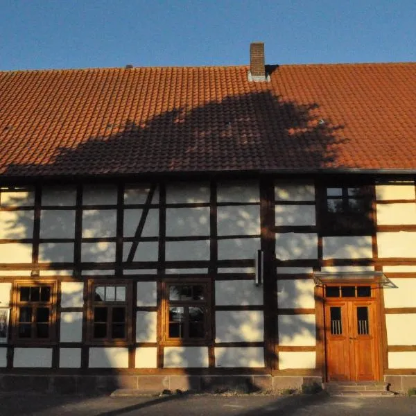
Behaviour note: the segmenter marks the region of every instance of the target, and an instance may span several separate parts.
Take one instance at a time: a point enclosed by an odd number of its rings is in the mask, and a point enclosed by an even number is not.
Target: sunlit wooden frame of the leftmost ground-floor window
[[[35,286],[51,286],[51,294],[49,302],[30,302],[20,300],[21,287],[35,287]],[[12,304],[12,341],[16,345],[51,345],[55,344],[57,340],[57,300],[58,300],[58,283],[55,280],[17,280],[13,284],[13,304]],[[49,337],[48,338],[19,338],[19,315],[20,308],[24,306],[32,306],[37,309],[38,307],[48,306],[50,310],[49,314]],[[35,313],[33,313],[33,316]],[[35,320],[32,318],[32,326],[35,326]],[[32,329],[33,331],[33,329]]]

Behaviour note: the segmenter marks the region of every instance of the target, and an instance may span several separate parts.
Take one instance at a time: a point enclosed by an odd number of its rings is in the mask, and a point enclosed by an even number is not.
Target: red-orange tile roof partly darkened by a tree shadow
[[[0,175],[416,170],[416,63],[0,72]]]

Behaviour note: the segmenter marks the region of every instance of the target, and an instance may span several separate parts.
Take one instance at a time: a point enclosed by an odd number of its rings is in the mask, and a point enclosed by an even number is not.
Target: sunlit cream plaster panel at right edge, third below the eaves
[[[378,232],[379,257],[416,257],[416,232]]]

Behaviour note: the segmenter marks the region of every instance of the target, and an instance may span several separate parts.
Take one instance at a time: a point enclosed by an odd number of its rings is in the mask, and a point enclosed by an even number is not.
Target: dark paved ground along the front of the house
[[[416,415],[416,397],[328,397],[320,394],[112,398],[0,393],[0,415],[408,416]]]

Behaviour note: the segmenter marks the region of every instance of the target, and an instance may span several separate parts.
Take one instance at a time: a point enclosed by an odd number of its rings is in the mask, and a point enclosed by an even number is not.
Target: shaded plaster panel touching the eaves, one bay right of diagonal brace
[[[209,184],[177,182],[166,185],[167,204],[193,204],[209,202]]]

